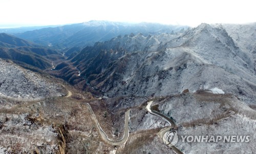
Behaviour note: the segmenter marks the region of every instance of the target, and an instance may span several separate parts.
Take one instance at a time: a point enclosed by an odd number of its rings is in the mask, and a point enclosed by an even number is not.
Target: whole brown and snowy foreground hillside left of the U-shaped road
[[[0,68],[0,153],[100,153],[113,148],[92,129],[88,108],[73,98],[84,100],[84,93],[10,60],[0,59]]]

